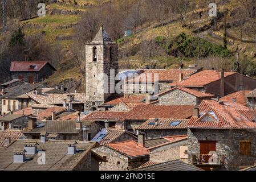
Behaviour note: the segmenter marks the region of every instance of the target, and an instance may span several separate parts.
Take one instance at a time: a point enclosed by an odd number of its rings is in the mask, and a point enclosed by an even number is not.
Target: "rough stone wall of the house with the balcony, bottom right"
[[[217,155],[224,155],[224,165],[220,170],[238,170],[253,166],[256,158],[255,130],[210,130],[188,129],[188,160],[192,163],[192,155],[200,154],[200,140],[216,141]],[[251,155],[239,153],[241,140],[250,140]]]

